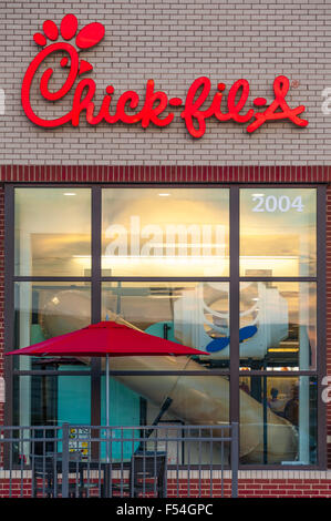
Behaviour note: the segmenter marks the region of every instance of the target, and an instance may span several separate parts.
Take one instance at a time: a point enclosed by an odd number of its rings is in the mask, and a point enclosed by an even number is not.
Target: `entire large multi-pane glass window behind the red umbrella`
[[[99,320],[203,349],[112,358],[111,425],[152,423],[169,397],[168,425],[239,421],[245,468],[320,464],[317,187],[12,186],[7,196],[8,350]],[[10,422],[102,425],[104,369],[104,359],[14,357]]]

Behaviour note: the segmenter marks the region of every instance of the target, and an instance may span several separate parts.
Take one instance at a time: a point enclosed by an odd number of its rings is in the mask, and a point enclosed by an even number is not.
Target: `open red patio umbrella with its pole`
[[[106,357],[106,427],[108,416],[110,356],[208,355],[193,347],[148,335],[116,321],[100,321],[6,355]]]

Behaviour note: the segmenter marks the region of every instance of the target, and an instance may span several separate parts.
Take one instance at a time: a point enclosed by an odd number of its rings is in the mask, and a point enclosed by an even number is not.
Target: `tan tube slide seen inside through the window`
[[[45,306],[41,327],[45,336],[56,336],[79,329],[90,323],[90,298],[77,290],[62,290]],[[80,318],[73,315],[80,310]],[[107,311],[111,320],[127,324]],[[185,335],[184,335],[185,336]],[[186,339],[187,335],[185,336]],[[189,345],[189,344],[188,344]],[[197,347],[197,346],[194,346]],[[201,346],[198,346],[201,347]],[[83,361],[89,362],[89,359]],[[104,364],[104,360],[103,360]],[[111,370],[199,371],[199,376],[116,376],[115,378],[157,407],[169,397],[170,416],[189,425],[221,426],[229,422],[229,381],[226,377],[210,376],[209,369],[187,357],[114,357]],[[206,377],[201,374],[206,374]],[[240,394],[240,458],[246,462],[262,462],[266,450],[263,407],[245,390]],[[265,411],[266,413],[266,411]],[[266,418],[265,418],[266,420]],[[298,451],[297,433],[285,418],[267,408],[268,461],[293,461]],[[217,433],[215,435],[217,436]]]

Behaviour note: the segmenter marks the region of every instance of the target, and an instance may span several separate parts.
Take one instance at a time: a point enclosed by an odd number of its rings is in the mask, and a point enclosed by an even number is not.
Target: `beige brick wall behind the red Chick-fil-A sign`
[[[24,115],[21,83],[38,48],[32,37],[46,19],[59,25],[73,12],[80,27],[100,21],[105,38],[84,51],[94,65],[96,100],[112,83],[115,94],[144,93],[153,78],[169,98],[185,98],[194,79],[207,75],[216,90],[246,78],[256,96],[272,100],[272,82],[285,74],[299,82],[287,100],[307,105],[310,124],[271,122],[249,135],[246,125],[209,120],[194,140],[177,114],[167,129],[124,124],[55,131],[35,127]],[[2,1],[0,88],[1,164],[330,164],[331,114],[321,111],[322,91],[331,88],[331,9],[328,0],[156,0]],[[213,92],[214,92],[213,90]],[[35,94],[40,113],[45,102]],[[50,108],[48,108],[50,114]]]

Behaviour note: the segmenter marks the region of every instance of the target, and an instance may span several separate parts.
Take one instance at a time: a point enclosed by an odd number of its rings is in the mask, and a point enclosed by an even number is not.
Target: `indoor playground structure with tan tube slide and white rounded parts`
[[[214,283],[213,283],[214,284]],[[221,289],[214,284],[214,289]],[[270,290],[271,289],[271,290]],[[244,344],[245,354],[249,356],[262,357],[267,353],[269,343],[276,344],[287,335],[286,318],[287,308],[285,302],[280,302],[282,297],[277,294],[273,288],[263,288],[263,284],[259,285],[259,303],[261,299],[267,303],[263,309],[263,320],[266,313],[271,311],[272,298],[277,299],[277,306],[281,308],[280,316],[270,313],[269,323],[261,328],[262,333],[257,333],[256,338],[248,339]],[[196,294],[189,292],[189,295],[177,299],[174,305],[174,328],[175,336],[178,341],[186,345],[194,345],[197,341],[197,331],[199,333],[200,348],[208,349],[208,340],[210,337],[206,333],[206,324],[204,323],[204,314],[207,310],[215,313],[206,306],[201,299],[201,288],[197,286]],[[190,299],[190,302],[188,302]],[[196,300],[196,305],[193,304]],[[268,300],[269,299],[269,300]],[[282,299],[285,300],[285,299]],[[197,303],[200,308],[198,308]],[[263,304],[262,303],[262,304]],[[281,304],[281,305],[279,305]],[[80,318],[73,315],[73,310],[80,310]],[[188,316],[188,310],[190,316]],[[182,315],[180,315],[182,313]],[[41,325],[44,336],[55,336],[69,333],[69,330],[84,327],[89,324],[90,299],[81,292],[70,289],[58,292],[56,295],[48,302],[42,316]],[[103,314],[112,320],[127,324],[121,316],[103,309]],[[185,315],[186,314],[186,315]],[[259,325],[260,315],[257,307],[249,309],[249,314],[254,317],[255,324]],[[246,314],[248,316],[248,313]],[[182,317],[182,320],[180,320]],[[217,331],[224,337],[228,334],[225,321],[228,316],[224,313],[217,314],[217,319],[224,321],[223,326],[217,327]],[[279,320],[279,327],[277,324]],[[189,329],[190,324],[190,329]],[[184,325],[180,329],[180,325]],[[215,328],[210,320],[207,327]],[[131,324],[131,327],[134,325]],[[189,336],[189,330],[192,331]],[[265,340],[263,340],[265,339]],[[240,344],[240,350],[241,346]],[[247,344],[247,346],[246,346]],[[273,345],[271,344],[271,345]],[[226,356],[228,347],[221,349],[220,353],[211,354],[211,356]],[[204,357],[205,358],[205,357]],[[90,359],[83,359],[85,364]],[[156,407],[162,407],[166,397],[172,398],[172,405],[168,415],[175,419],[180,419],[190,425],[208,425],[217,426],[229,422],[229,381],[226,377],[213,376],[210,370],[204,365],[189,359],[187,357],[118,357],[112,358],[112,370],[137,370],[137,371],[199,371],[199,376],[115,376],[115,379],[124,386],[144,397]],[[206,374],[203,376],[201,374]],[[245,390],[239,390],[240,396],[240,458],[245,462],[263,462],[263,454],[268,454],[268,462],[280,463],[283,461],[293,461],[298,459],[298,435],[294,427],[285,418],[272,412],[270,408],[263,411],[261,402],[249,396]],[[265,419],[263,419],[265,413]],[[265,428],[263,428],[265,421]],[[308,448],[306,448],[306,451]],[[302,456],[300,457],[300,460]]]

